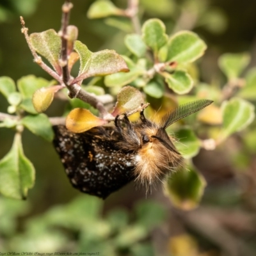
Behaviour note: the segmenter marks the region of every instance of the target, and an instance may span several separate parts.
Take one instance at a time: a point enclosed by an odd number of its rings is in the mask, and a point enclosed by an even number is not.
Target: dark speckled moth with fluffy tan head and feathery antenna
[[[156,123],[143,111],[136,123],[126,115],[115,119],[115,126],[101,126],[83,133],[54,126],[54,147],[74,188],[83,193],[106,198],[132,180],[151,186],[175,170],[182,156],[175,148],[175,138],[166,128],[185,116],[212,103],[196,100],[172,109]]]

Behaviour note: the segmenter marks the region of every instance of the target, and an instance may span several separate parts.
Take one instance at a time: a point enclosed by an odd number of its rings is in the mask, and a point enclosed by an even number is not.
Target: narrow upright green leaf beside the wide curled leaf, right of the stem
[[[79,59],[80,59],[80,67],[79,67],[79,74],[82,74],[86,72],[88,65],[89,65],[89,60],[92,56],[92,52],[88,49],[88,47],[83,44],[80,41],[76,41],[74,44],[74,49],[75,51],[79,54]]]

